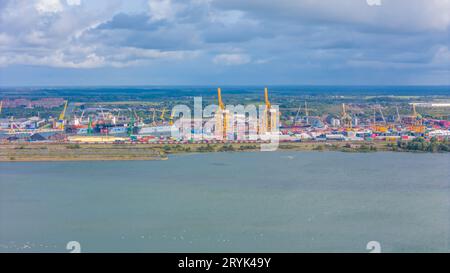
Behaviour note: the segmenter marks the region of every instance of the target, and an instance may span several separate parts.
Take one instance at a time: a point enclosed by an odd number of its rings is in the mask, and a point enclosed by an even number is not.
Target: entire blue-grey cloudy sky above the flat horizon
[[[450,84],[450,0],[0,0],[0,85]]]

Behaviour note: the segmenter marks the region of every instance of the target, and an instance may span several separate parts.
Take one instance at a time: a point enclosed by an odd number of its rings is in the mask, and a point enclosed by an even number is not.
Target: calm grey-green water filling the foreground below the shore
[[[449,154],[0,163],[0,252],[449,251]]]

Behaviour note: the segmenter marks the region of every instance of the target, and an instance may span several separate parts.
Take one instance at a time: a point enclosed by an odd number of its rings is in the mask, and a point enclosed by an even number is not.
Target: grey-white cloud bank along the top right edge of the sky
[[[396,31],[445,30],[450,26],[449,0],[222,0],[214,6],[242,10],[266,20],[355,24]]]

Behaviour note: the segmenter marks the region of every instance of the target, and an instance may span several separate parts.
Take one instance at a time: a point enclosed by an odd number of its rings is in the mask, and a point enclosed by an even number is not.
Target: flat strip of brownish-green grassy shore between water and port
[[[21,143],[0,144],[1,162],[166,160],[170,154],[209,152],[259,152],[261,143]],[[392,143],[373,142],[289,142],[279,151],[399,151]]]

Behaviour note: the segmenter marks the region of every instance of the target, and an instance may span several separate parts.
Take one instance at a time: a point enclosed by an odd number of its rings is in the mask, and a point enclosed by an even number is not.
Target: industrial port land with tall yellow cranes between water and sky
[[[272,96],[269,88],[227,88],[231,90],[224,95],[221,88],[180,88],[176,90],[183,96],[176,100],[162,92],[170,88],[124,89],[111,94],[109,89],[98,88],[94,91],[103,95],[92,98],[92,90],[80,89],[70,102],[63,98],[67,94],[63,89],[51,91],[58,95],[51,98],[45,97],[49,92],[45,88],[6,89],[0,101],[0,160],[24,161],[27,156],[30,161],[142,160],[174,151],[254,150],[275,140],[287,144],[285,148],[315,143],[306,150],[448,152],[449,96],[441,88],[429,88],[421,96],[381,91],[292,95],[286,87],[275,89]],[[410,94],[416,89],[420,88],[411,87]],[[207,96],[193,96],[201,92]],[[26,153],[36,147],[30,144],[48,146],[39,146],[39,157]],[[53,144],[63,149],[53,149],[58,147]],[[84,156],[75,151],[81,144],[105,144],[103,148],[116,152],[109,153],[114,156]],[[124,153],[142,151],[135,149],[140,144],[159,145],[159,149],[151,149],[149,155]],[[64,147],[70,150],[48,156]]]

